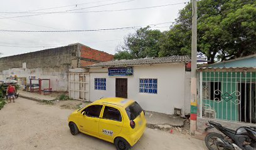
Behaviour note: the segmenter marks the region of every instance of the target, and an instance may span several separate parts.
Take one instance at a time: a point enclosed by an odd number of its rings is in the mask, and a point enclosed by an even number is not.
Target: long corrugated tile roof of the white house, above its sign
[[[115,66],[133,66],[133,65],[144,65],[144,64],[168,64],[168,63],[188,63],[191,59],[189,56],[169,56],[162,58],[139,58],[139,59],[128,59],[128,60],[117,60],[117,61],[106,61],[90,66],[88,68],[95,67],[115,67]]]

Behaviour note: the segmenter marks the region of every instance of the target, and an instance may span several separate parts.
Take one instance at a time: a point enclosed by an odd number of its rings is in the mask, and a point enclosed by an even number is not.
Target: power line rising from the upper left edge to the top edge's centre
[[[83,10],[83,9],[88,9],[88,8],[99,8],[101,6],[109,6],[109,5],[113,5],[113,4],[120,4],[120,3],[131,2],[131,1],[135,1],[135,0],[113,2],[113,3],[109,3],[109,4],[101,4],[101,5],[98,5],[98,6],[90,6],[90,7],[87,7],[87,8],[70,9],[70,10],[67,10],[67,11],[45,12],[45,13],[41,13],[41,14],[31,14],[31,15],[24,15],[24,16],[0,17],[0,19],[9,19],[9,18],[14,18],[14,17],[41,16],[41,15],[44,15],[44,14],[55,14],[57,12],[78,11],[78,10]]]

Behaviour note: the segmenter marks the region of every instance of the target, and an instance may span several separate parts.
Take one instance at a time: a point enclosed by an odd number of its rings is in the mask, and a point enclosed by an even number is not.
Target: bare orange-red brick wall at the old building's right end
[[[112,54],[98,51],[90,47],[81,46],[81,58],[94,60],[94,61],[81,60],[81,66],[87,66],[87,65],[99,63],[102,61],[112,61],[114,59],[114,56]]]

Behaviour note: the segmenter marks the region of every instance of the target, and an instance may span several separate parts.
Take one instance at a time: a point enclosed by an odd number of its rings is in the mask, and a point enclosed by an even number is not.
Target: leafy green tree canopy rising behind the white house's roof
[[[191,53],[192,5],[179,11],[169,31],[149,26],[124,37],[115,59],[163,57]],[[256,1],[198,1],[198,52],[210,63],[256,53]]]

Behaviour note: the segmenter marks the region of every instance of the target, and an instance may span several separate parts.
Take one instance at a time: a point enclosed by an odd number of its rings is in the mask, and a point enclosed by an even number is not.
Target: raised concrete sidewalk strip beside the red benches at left
[[[40,95],[38,93],[30,93],[30,92],[21,91],[21,90],[19,90],[18,93],[19,93],[19,97],[30,99],[30,100],[33,100],[33,101],[44,101],[44,100],[53,101],[53,100],[56,99],[56,98],[53,98],[51,96],[46,96],[46,95],[43,95],[43,94]]]

